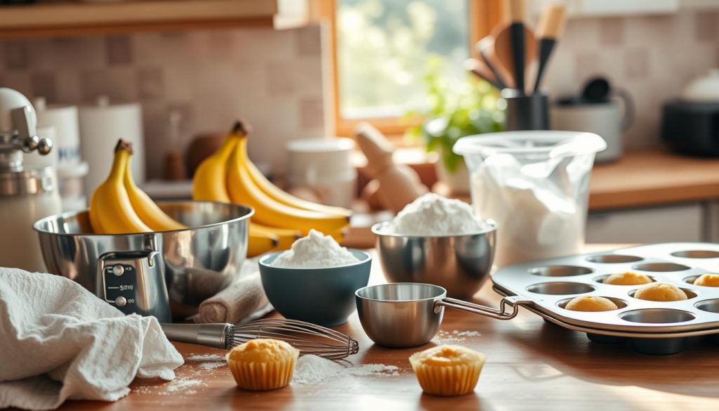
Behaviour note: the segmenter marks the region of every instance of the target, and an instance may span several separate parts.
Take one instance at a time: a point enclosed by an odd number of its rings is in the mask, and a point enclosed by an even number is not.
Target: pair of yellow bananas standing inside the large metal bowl
[[[187,228],[165,214],[134,184],[130,171],[131,155],[132,145],[119,140],[110,175],[95,189],[90,200],[93,232],[127,234]]]

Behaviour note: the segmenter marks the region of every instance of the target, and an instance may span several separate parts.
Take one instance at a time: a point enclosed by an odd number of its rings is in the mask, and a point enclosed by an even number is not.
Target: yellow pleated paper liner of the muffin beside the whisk
[[[292,357],[273,362],[227,361],[237,387],[250,391],[266,391],[287,387],[295,371],[299,351]]]

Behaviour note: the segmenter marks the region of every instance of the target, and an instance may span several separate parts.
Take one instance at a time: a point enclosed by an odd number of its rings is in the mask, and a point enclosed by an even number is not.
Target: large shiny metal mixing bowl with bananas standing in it
[[[95,234],[86,211],[58,214],[35,222],[47,271],[77,281],[101,296],[104,286],[98,280],[102,279],[98,271],[105,256],[155,253],[164,265],[173,317],[195,314],[204,299],[239,276],[247,255],[249,217],[254,211],[242,205],[216,202],[157,204],[191,228],[141,234]]]

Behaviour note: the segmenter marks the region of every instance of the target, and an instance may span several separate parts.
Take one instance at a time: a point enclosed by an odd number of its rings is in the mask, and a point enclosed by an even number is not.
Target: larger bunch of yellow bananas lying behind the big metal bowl
[[[249,129],[237,122],[223,145],[195,171],[193,199],[234,202],[255,209],[247,256],[286,250],[311,229],[342,239],[351,212],[298,199],[272,184],[247,155]]]

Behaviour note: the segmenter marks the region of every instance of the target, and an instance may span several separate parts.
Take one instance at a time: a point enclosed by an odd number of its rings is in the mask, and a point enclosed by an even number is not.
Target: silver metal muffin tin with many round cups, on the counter
[[[640,286],[604,284],[611,274],[634,271],[674,284],[689,299],[654,302],[636,299]],[[695,286],[693,279],[719,271],[719,245],[664,243],[532,261],[501,268],[492,276],[495,291],[512,297],[550,322],[587,333],[590,340],[616,343],[629,338],[637,351],[682,351],[688,337],[719,340],[719,287]],[[618,310],[579,312],[564,304],[580,295],[607,297]]]

